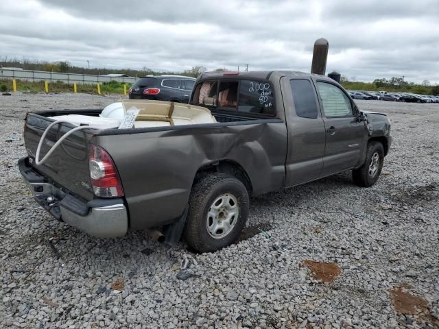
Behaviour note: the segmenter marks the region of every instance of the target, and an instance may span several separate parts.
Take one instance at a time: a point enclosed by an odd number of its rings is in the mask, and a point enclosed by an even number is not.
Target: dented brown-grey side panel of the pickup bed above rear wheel
[[[254,195],[278,190],[285,178],[286,136],[286,125],[278,119],[96,138],[115,160],[130,228],[139,230],[179,217],[187,206],[195,173],[217,160],[240,164]]]

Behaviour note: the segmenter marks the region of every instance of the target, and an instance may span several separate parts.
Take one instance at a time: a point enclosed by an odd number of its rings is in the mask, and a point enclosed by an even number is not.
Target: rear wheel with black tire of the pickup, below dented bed
[[[198,252],[215,252],[235,241],[248,216],[246,186],[225,173],[195,179],[183,232],[186,242]]]

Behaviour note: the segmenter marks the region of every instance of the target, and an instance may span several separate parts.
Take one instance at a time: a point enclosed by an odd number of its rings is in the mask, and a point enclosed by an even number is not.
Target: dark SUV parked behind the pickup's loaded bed
[[[155,99],[157,101],[177,101],[187,103],[195,79],[182,75],[158,75],[140,77],[129,90],[130,99]]]

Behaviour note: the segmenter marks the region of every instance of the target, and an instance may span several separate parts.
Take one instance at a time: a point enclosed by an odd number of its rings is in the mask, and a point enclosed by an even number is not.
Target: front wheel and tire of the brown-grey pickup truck
[[[379,142],[370,142],[364,164],[352,171],[352,178],[358,186],[370,187],[379,178],[384,162],[384,147]]]

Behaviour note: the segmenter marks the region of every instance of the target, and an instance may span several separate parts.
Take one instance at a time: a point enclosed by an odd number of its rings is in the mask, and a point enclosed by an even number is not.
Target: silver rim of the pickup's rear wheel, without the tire
[[[207,212],[206,228],[213,239],[222,239],[232,232],[239,217],[239,205],[235,195],[225,193],[212,202]]]

